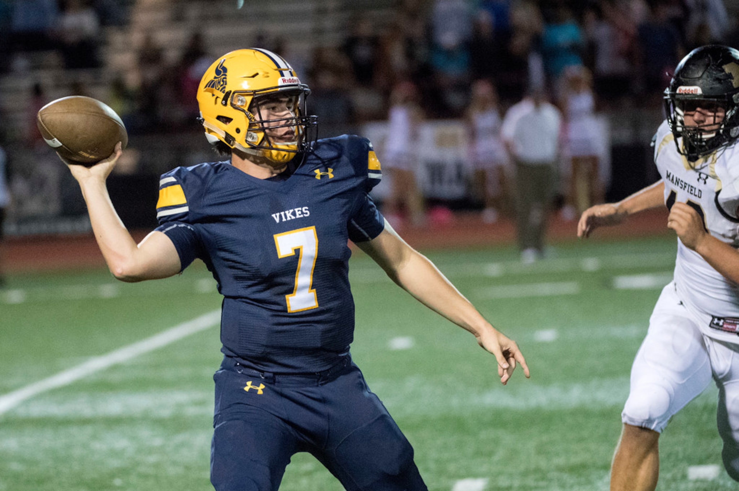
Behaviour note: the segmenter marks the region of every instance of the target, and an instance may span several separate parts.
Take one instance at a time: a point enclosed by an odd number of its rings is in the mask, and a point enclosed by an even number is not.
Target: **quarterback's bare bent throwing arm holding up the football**
[[[119,143],[110,157],[89,168],[64,161],[80,185],[103,258],[110,272],[121,281],[175,275],[180,272],[180,256],[172,241],[164,233],[154,231],[136,244],[110,201],[106,179],[120,154]]]

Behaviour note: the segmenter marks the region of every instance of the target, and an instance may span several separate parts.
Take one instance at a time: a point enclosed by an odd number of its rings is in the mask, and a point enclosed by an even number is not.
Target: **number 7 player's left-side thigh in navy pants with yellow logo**
[[[219,371],[211,444],[211,483],[217,491],[272,491],[296,451],[296,436],[278,411],[272,385],[245,391],[240,374]],[[256,382],[255,382],[256,383]]]

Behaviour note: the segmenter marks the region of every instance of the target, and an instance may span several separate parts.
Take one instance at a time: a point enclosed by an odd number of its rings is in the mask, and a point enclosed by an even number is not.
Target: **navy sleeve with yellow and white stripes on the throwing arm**
[[[188,223],[190,207],[184,189],[186,176],[183,168],[174,169],[161,176],[157,200],[159,227],[155,229],[170,238],[174,248],[177,249],[177,254],[180,255],[182,269],[200,257],[202,250],[196,227]]]

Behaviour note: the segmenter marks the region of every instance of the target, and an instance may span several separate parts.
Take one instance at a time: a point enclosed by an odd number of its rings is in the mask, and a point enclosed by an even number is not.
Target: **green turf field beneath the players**
[[[674,238],[581,241],[531,266],[509,247],[426,253],[531,368],[531,380],[517,371],[500,385],[471,334],[355,254],[353,356],[429,489],[607,490],[630,364],[670,280]],[[11,277],[0,290],[0,491],[211,489],[217,327],[177,331],[141,354],[134,343],[219,304],[202,264],[144,284],[105,271]],[[106,366],[112,352],[122,361]],[[60,373],[58,386],[34,385]],[[667,428],[659,490],[736,489],[721,467],[715,396],[710,388]],[[700,470],[708,475],[690,478]],[[281,490],[341,487],[299,454]]]

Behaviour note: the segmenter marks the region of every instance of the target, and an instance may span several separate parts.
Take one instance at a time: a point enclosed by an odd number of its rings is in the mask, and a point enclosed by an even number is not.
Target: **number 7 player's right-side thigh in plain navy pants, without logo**
[[[413,447],[352,366],[332,388],[328,449],[316,457],[347,490],[426,490]]]

